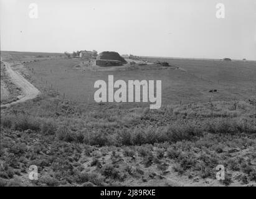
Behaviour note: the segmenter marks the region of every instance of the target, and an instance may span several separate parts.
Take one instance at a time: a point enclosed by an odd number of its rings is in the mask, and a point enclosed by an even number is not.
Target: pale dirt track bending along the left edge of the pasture
[[[1,108],[5,108],[11,106],[12,104],[22,103],[28,99],[34,99],[37,95],[40,94],[40,91],[32,85],[29,81],[27,81],[21,74],[14,72],[11,68],[11,64],[4,62],[6,66],[6,72],[10,75],[12,82],[17,85],[22,90],[22,95],[19,96],[17,101],[14,101],[9,104],[2,104]]]

